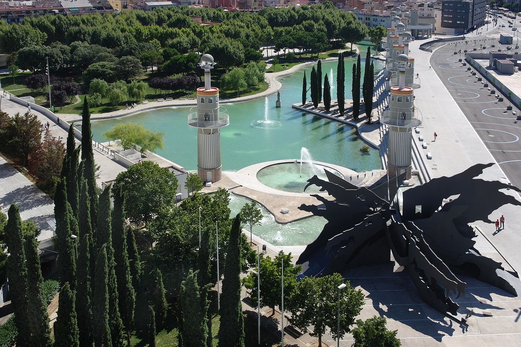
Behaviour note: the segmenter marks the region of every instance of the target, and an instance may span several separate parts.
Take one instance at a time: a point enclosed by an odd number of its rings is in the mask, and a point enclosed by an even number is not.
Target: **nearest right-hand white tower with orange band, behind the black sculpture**
[[[380,114],[380,122],[389,126],[387,152],[389,177],[406,173],[411,178],[412,128],[421,124],[421,112],[414,106],[414,91],[405,85],[405,71],[409,68],[409,57],[400,54],[398,85],[391,86],[389,108]],[[391,79],[392,82],[392,79]]]

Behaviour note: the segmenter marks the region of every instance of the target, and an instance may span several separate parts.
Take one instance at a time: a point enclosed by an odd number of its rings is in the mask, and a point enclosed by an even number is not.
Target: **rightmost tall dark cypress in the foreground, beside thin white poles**
[[[241,218],[235,216],[228,242],[222,280],[219,347],[244,346],[244,318],[241,304]]]

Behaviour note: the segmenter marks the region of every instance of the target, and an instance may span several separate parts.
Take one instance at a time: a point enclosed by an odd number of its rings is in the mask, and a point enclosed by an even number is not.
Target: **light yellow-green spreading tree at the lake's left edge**
[[[163,149],[163,133],[148,130],[139,123],[119,123],[103,134],[110,140],[121,140],[123,149],[133,148],[141,153]]]

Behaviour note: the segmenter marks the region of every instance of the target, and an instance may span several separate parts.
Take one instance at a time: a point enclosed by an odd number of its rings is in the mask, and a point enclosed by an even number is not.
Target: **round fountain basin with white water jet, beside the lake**
[[[307,180],[313,175],[328,181],[324,170],[343,178],[344,176],[337,170],[329,168],[325,165],[302,162],[302,170],[300,162],[280,163],[266,166],[257,172],[257,179],[262,184],[282,191],[294,193],[303,193],[307,185]],[[306,189],[306,193],[317,193],[319,187],[311,185]]]

